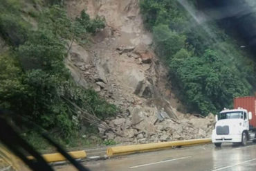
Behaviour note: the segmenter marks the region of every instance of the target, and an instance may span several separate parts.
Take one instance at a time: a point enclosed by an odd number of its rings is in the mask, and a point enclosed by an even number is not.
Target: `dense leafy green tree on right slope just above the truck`
[[[205,51],[203,57],[172,59],[172,75],[185,92],[192,110],[207,115],[230,106],[232,98],[248,94],[235,71],[222,64],[221,57],[212,50]]]

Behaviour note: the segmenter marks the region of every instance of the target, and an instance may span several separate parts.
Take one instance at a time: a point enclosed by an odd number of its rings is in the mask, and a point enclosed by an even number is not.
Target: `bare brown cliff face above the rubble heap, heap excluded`
[[[150,48],[152,35],[143,28],[138,1],[68,1],[67,9],[71,17],[87,9],[91,17],[100,15],[107,24],[93,37],[89,49],[76,44],[71,48],[72,64],[80,65],[80,75],[86,76],[80,78],[82,85],[88,82],[86,86],[111,97],[109,100],[120,107],[154,105],[154,101],[163,107],[169,102],[177,107],[166,81],[167,70]],[[77,57],[83,58],[84,66]]]

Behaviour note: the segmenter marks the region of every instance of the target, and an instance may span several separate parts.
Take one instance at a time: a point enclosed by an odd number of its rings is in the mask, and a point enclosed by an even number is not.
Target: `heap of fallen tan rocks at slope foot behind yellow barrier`
[[[181,117],[174,120],[168,117],[164,109],[136,106],[128,109],[127,117],[117,116],[106,121],[113,132],[99,130],[103,138],[127,144],[210,137],[214,128],[212,114],[206,118],[190,114]]]

